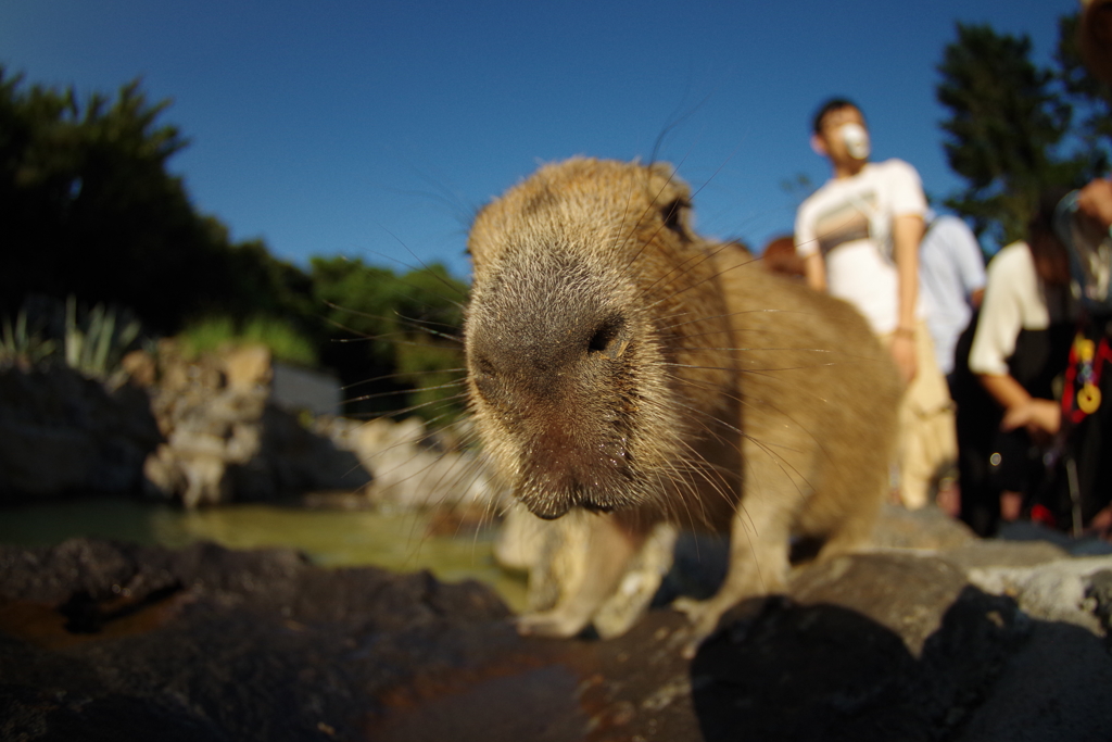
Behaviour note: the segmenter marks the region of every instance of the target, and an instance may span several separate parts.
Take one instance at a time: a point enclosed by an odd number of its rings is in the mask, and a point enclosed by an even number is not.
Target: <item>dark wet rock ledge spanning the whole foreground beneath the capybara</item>
[[[0,738],[1108,739],[1112,557],[911,546],[800,568],[692,662],[666,609],[547,641],[476,583],[290,551],[2,547]]]

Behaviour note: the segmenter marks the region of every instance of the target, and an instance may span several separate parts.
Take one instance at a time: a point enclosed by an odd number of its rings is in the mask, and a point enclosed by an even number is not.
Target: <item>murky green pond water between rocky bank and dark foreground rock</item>
[[[428,535],[428,516],[415,513],[259,504],[186,511],[135,499],[86,498],[4,508],[0,543],[41,546],[89,536],[169,548],[196,541],[245,550],[284,546],[325,567],[428,570],[445,582],[479,580],[515,611],[524,606],[524,578],[494,561],[493,530],[441,536]]]

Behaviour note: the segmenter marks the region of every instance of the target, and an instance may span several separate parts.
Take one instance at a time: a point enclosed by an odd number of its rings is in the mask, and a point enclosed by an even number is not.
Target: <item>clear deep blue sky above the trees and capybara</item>
[[[28,80],[172,99],[198,208],[279,257],[440,260],[468,275],[471,214],[573,155],[658,159],[701,188],[706,235],[791,231],[782,182],[827,177],[815,106],[856,99],[874,158],[959,180],[935,66],[955,21],[1026,33],[1045,62],[1076,0],[427,2],[0,0],[0,62]],[[674,125],[674,126],[673,126]],[[668,128],[668,127],[672,128]]]

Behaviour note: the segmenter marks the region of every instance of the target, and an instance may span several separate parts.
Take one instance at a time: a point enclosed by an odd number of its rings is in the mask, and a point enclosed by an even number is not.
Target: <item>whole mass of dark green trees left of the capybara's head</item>
[[[440,266],[397,276],[314,258],[306,273],[261,240],[234,243],[168,170],[188,145],[161,122],[168,105],[137,81],[81,101],[0,67],[0,317],[23,316],[29,297],[76,297],[133,311],[155,334],[205,318],[225,335],[281,328],[312,345],[297,350],[304,363],[316,356],[358,384],[347,396],[367,400],[349,413],[440,415],[444,405],[420,405],[456,394],[466,286]]]

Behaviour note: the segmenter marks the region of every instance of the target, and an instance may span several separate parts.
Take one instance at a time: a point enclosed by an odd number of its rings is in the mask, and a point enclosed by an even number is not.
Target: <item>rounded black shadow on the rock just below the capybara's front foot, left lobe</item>
[[[915,661],[900,636],[833,605],[770,603],[692,663],[703,739],[930,739],[906,698]]]

